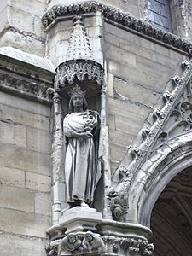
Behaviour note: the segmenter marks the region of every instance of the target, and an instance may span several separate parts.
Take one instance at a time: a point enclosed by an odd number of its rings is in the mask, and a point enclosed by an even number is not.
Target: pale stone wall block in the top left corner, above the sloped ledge
[[[12,46],[33,55],[44,55],[45,33],[41,16],[45,0],[3,0],[0,6],[0,47]]]

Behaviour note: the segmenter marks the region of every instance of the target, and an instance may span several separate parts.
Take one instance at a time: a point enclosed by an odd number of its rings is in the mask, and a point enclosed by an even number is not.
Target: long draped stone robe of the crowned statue
[[[68,141],[65,160],[67,202],[84,201],[90,204],[99,178],[94,140],[78,136],[78,133],[84,132],[90,113],[92,118],[98,118],[98,113],[87,110],[67,114],[63,121]]]

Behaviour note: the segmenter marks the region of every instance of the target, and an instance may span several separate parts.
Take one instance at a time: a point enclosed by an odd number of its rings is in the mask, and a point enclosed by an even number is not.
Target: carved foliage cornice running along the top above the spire
[[[142,20],[128,15],[119,9],[114,9],[102,3],[95,1],[74,3],[70,5],[56,5],[42,17],[44,28],[48,28],[55,20],[68,15],[83,15],[101,11],[104,18],[116,22],[121,26],[139,32],[144,36],[153,38],[161,43],[168,44],[176,49],[183,50],[187,54],[192,54],[192,44],[189,41],[183,40],[176,35],[160,30],[158,27],[152,26]]]

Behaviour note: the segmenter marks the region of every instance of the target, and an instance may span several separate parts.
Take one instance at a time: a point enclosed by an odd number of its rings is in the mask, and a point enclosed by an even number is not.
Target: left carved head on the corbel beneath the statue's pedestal
[[[76,249],[78,249],[80,246],[81,246],[81,240],[79,239],[79,237],[77,235],[71,233],[68,236],[65,236],[61,240],[58,255],[61,255],[61,251],[73,252]]]

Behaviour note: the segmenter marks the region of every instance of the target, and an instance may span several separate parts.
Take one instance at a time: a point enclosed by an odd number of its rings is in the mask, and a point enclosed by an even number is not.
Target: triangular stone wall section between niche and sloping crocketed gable
[[[113,170],[142,128],[184,55],[108,22],[105,23],[104,40]]]

